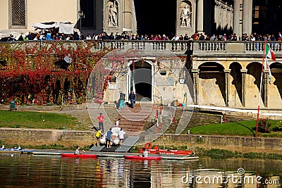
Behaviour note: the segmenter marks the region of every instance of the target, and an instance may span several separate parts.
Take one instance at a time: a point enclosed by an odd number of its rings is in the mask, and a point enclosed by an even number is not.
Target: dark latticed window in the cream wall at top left
[[[26,0],[9,0],[10,28],[26,28]]]

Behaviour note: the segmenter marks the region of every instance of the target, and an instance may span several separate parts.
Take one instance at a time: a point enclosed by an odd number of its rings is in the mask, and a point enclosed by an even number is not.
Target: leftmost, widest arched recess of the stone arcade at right
[[[202,84],[203,103],[213,106],[226,106],[226,77],[224,67],[220,63],[202,63],[198,69]],[[211,97],[213,96],[213,97]]]

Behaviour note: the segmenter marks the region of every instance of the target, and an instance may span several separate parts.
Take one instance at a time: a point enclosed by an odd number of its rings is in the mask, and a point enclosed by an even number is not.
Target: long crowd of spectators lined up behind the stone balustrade
[[[38,32],[37,34],[34,34],[30,32],[28,35],[23,37],[24,41],[28,40],[152,40],[152,41],[160,41],[160,40],[188,40],[188,41],[195,41],[195,40],[206,40],[206,41],[264,41],[266,39],[267,41],[281,41],[282,35],[281,32],[278,32],[278,35],[258,35],[256,32],[252,33],[250,37],[247,34],[243,34],[243,36],[238,37],[235,33],[231,35],[207,35],[203,34],[201,32],[195,32],[191,36],[188,34],[180,35],[138,35],[136,33],[131,32],[122,32],[121,34],[116,32],[111,32],[110,35],[108,35],[106,32],[102,32],[99,34],[88,34],[86,37],[83,35],[82,32],[78,34],[78,32],[74,32],[71,35],[64,35],[63,33],[59,33],[55,29],[51,30],[42,30]],[[16,41],[15,38],[13,38],[13,35],[10,35],[6,39],[7,42]]]

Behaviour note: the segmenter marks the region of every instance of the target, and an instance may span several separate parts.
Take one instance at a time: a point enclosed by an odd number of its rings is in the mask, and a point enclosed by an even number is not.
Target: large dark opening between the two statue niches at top
[[[176,1],[135,0],[138,35],[167,35],[176,32]]]

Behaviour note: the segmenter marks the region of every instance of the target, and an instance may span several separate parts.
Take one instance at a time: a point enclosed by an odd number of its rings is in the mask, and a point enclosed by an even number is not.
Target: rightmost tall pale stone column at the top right
[[[243,0],[243,33],[252,33],[252,1]]]

